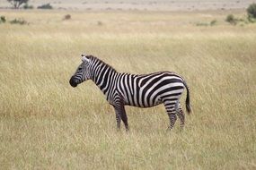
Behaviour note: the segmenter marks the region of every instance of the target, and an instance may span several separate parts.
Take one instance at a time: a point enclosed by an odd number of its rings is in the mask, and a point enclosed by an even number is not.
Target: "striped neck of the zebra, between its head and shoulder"
[[[118,75],[119,73],[113,68],[104,64],[99,70],[94,72],[93,81],[105,95],[108,95],[110,90],[114,89]]]

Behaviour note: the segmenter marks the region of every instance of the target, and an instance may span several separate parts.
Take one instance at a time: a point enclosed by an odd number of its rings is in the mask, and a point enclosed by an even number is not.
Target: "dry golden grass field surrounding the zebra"
[[[1,169],[255,169],[256,24],[229,13],[2,11]],[[214,26],[197,26],[209,23]],[[68,81],[81,53],[119,72],[172,71],[193,113],[167,132],[163,106],[127,106],[130,132],[92,81]],[[184,104],[182,97],[182,104]]]

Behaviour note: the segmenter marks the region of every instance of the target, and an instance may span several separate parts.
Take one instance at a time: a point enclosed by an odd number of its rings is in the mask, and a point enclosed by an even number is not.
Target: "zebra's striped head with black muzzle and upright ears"
[[[91,72],[90,72],[90,63],[91,60],[88,56],[82,54],[82,64],[80,64],[74,75],[70,78],[70,85],[75,88],[78,84],[90,80],[91,79]]]

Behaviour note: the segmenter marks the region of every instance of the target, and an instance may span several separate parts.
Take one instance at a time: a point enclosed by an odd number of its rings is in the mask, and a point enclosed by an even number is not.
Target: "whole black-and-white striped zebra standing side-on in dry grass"
[[[93,55],[82,54],[80,64],[70,78],[70,85],[92,80],[114,107],[117,128],[121,120],[128,131],[128,116],[125,106],[151,107],[163,104],[170,119],[171,130],[177,116],[181,120],[181,129],[185,123],[185,115],[181,109],[180,98],[187,89],[186,110],[190,114],[190,89],[184,79],[174,72],[154,72],[149,74],[130,74],[117,72],[109,64]]]

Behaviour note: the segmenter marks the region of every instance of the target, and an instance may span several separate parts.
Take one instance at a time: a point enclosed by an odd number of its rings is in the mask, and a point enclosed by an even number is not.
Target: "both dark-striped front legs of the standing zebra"
[[[125,124],[126,131],[128,131],[128,117],[126,114],[125,106],[121,103],[117,106],[114,106],[116,112],[116,119],[118,124],[118,129],[120,129],[120,119],[122,119],[123,123]]]

